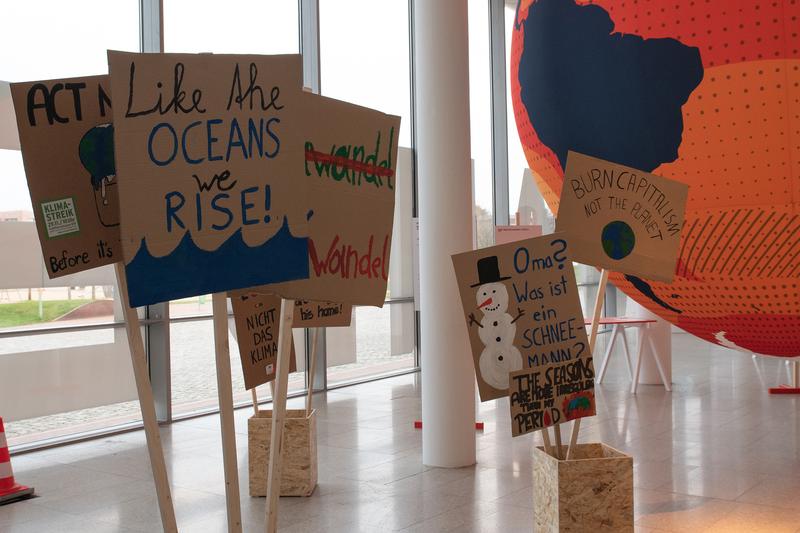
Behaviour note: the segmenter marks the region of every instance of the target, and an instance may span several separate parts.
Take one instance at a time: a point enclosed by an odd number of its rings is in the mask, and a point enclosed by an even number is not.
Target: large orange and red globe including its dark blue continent
[[[522,0],[511,94],[553,212],[569,149],[687,183],[672,283],[612,273],[708,341],[800,356],[800,1]]]

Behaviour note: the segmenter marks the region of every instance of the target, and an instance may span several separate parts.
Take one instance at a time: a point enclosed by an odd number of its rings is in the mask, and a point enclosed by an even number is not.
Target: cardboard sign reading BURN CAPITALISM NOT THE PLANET
[[[575,261],[671,282],[688,192],[684,183],[569,152],[556,231]]]

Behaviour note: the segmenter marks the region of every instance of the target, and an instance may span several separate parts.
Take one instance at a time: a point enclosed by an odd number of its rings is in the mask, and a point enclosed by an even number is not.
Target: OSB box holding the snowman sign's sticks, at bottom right
[[[600,443],[577,445],[573,457],[534,448],[534,531],[633,532],[633,458]]]

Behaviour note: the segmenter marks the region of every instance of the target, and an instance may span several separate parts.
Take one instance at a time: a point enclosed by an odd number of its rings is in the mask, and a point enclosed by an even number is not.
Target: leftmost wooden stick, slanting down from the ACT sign
[[[130,300],[128,300],[128,278],[125,275],[125,266],[122,263],[115,263],[114,271],[117,274],[117,288],[119,289],[119,298],[122,305],[122,315],[125,319],[125,332],[128,335],[133,377],[136,381],[136,392],[139,396],[139,408],[142,411],[144,434],[147,439],[147,452],[150,455],[150,469],[153,472],[153,481],[156,485],[158,509],[161,512],[161,525],[164,531],[177,532],[178,525],[175,521],[175,508],[172,504],[172,494],[169,488],[169,479],[167,478],[167,465],[164,462],[161,434],[158,432],[153,387],[150,384],[147,355],[144,351],[142,330],[139,327],[139,315],[136,314],[136,309],[130,306]]]

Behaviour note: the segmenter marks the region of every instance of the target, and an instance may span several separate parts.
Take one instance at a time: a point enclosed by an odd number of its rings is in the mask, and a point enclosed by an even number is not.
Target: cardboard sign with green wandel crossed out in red
[[[400,118],[314,94],[304,93],[302,102],[309,278],[258,290],[382,307]]]

